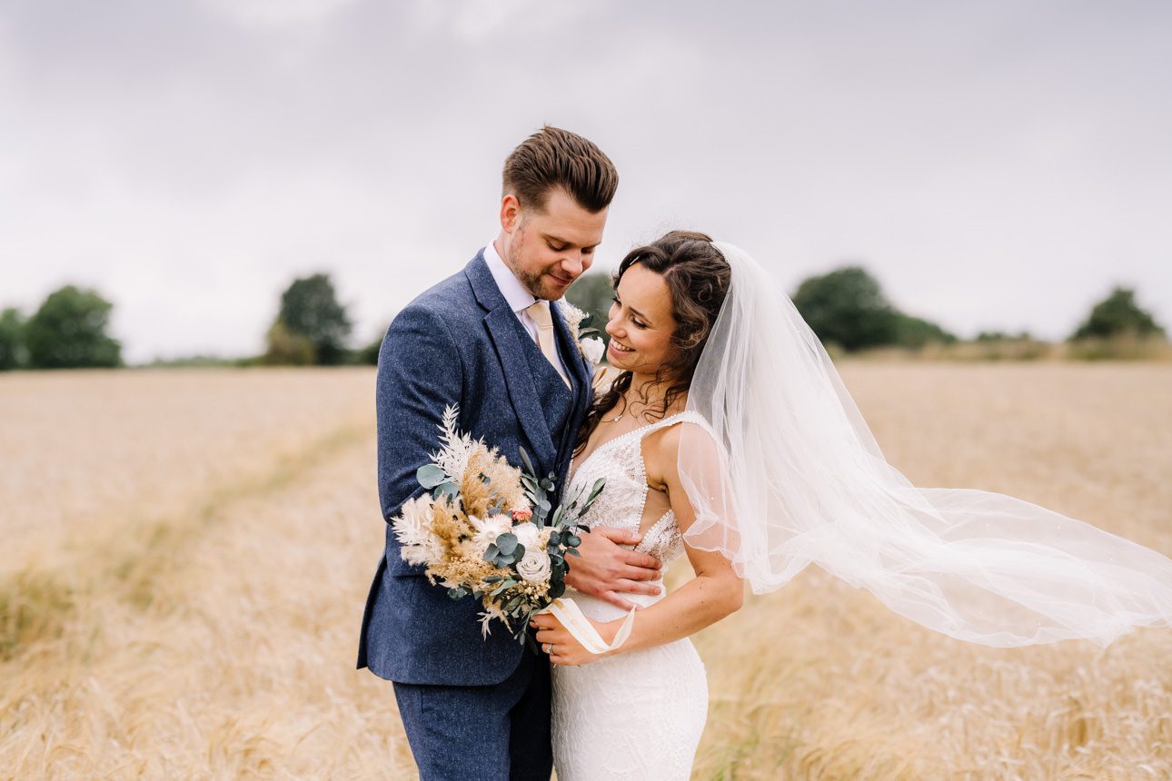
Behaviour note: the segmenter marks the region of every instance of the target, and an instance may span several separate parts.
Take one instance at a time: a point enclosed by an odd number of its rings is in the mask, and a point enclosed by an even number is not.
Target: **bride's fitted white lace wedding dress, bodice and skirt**
[[[568,491],[587,491],[599,478],[606,488],[582,521],[638,532],[647,502],[643,437],[691,422],[707,427],[695,412],[682,412],[604,443],[570,477]],[[635,550],[668,564],[683,553],[675,514],[668,511],[643,535]],[[571,595],[587,617],[621,618],[625,611],[594,597]],[[625,595],[646,607],[663,598]],[[635,621],[639,621],[638,614]],[[553,667],[553,762],[558,781],[688,779],[708,717],[704,665],[687,638],[619,653],[578,667]]]

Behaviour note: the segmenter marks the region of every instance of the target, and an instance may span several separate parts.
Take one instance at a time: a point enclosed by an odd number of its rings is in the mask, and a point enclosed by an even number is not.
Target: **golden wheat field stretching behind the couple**
[[[840,370],[917,485],[1172,554],[1172,366]],[[411,777],[390,685],[354,670],[373,381],[0,376],[0,777]],[[969,646],[811,569],[696,645],[696,779],[1172,777],[1172,630]]]

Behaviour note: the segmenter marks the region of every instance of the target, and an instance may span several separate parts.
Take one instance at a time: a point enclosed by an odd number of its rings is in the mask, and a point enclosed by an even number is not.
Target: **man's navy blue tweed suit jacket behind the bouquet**
[[[551,306],[565,384],[497,287],[483,252],[464,270],[416,297],[387,330],[379,352],[379,498],[383,520],[423,489],[415,472],[440,447],[440,420],[459,405],[459,427],[520,466],[524,447],[560,491],[591,402],[591,366]],[[560,415],[559,415],[560,412]],[[499,622],[482,639],[479,601],[452,601],[423,569],[387,544],[367,597],[357,666],[404,684],[473,686],[504,680],[522,645]]]

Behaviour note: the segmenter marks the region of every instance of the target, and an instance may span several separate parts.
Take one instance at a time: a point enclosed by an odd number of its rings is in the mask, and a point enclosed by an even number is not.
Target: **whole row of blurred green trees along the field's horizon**
[[[582,275],[567,299],[606,324],[613,299],[611,276]],[[810,276],[791,295],[793,306],[830,350],[860,352],[880,347],[917,349],[953,344],[959,337],[936,323],[901,311],[879,281],[861,266],[843,266]],[[114,304],[100,293],[67,285],[50,293],[29,316],[14,308],[0,313],[0,370],[81,369],[123,365],[122,344],[109,333]],[[352,347],[354,323],[338,300],[328,274],[294,279],[281,293],[277,316],[265,335],[265,351],[239,359],[188,358],[172,364],[342,365],[375,364],[381,335]],[[1132,288],[1116,286],[1093,304],[1068,337],[1083,343],[1117,337],[1166,341],[1164,328],[1136,302]],[[605,334],[604,334],[605,338]],[[1028,331],[982,331],[975,342],[1029,341]],[[1085,352],[1086,357],[1112,357]]]

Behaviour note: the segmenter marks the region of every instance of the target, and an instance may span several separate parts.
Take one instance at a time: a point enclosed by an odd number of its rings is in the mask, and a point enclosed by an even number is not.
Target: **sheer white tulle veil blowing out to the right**
[[[723,553],[756,592],[815,563],[984,645],[1105,646],[1172,623],[1166,556],[1006,494],[908,482],[778,282],[713,246],[732,278],[688,392],[708,427],[682,426],[688,544]]]

